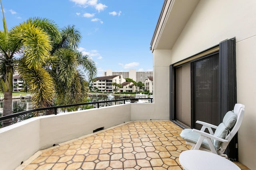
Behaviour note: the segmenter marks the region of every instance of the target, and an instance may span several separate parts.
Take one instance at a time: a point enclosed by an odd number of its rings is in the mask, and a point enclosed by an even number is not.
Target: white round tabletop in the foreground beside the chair
[[[203,150],[186,150],[179,161],[184,170],[241,170],[230,160]]]

